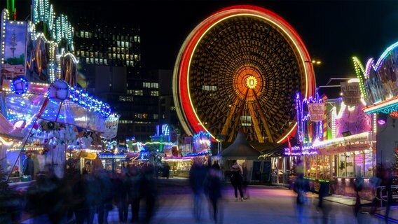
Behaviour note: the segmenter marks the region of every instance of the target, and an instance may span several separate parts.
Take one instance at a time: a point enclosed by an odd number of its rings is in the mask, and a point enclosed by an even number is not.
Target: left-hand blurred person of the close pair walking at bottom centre
[[[194,160],[189,170],[189,186],[193,193],[193,216],[197,221],[200,220],[202,214],[202,197],[205,193],[205,179],[207,177],[207,167],[199,159]]]

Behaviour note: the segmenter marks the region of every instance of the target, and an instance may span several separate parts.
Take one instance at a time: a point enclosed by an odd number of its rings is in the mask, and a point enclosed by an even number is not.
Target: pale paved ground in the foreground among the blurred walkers
[[[165,180],[163,180],[165,181]],[[169,184],[170,183],[170,184]],[[159,199],[156,214],[151,223],[214,223],[206,200],[203,203],[203,216],[195,221],[192,214],[191,191],[184,180],[165,181],[159,188]],[[328,197],[324,202],[324,212],[317,211],[317,195],[308,195],[308,204],[303,207],[303,220],[300,222],[295,205],[295,193],[287,188],[270,186],[250,186],[249,200],[235,202],[232,187],[226,184],[224,199],[221,202],[221,221],[219,223],[256,224],[256,223],[385,223],[384,218],[371,214],[353,214],[353,207],[348,205],[352,198]],[[332,202],[333,200],[336,202]],[[345,200],[345,201],[344,201]],[[362,202],[363,203],[363,202]],[[144,204],[143,208],[144,208]],[[144,209],[142,209],[144,210]],[[378,211],[383,215],[383,210]],[[398,219],[398,209],[393,208],[391,216]],[[142,214],[143,215],[143,214]],[[131,218],[131,212],[129,219]],[[24,223],[34,223],[32,219]],[[45,223],[45,221],[41,221]],[[118,222],[118,211],[113,209],[108,223]]]

